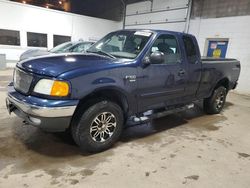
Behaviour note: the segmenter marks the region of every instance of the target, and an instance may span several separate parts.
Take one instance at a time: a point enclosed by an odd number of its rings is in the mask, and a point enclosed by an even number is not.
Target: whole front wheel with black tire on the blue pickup
[[[124,117],[116,103],[103,100],[90,105],[79,115],[80,119],[72,126],[71,133],[83,151],[104,151],[120,138]]]

